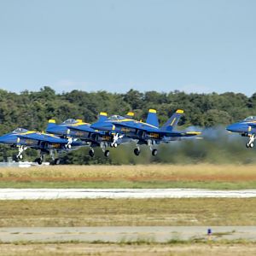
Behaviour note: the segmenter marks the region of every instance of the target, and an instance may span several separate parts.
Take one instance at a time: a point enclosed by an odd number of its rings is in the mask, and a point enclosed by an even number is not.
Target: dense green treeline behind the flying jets
[[[228,125],[239,119],[244,119],[249,115],[256,115],[256,93],[249,97],[233,92],[223,94],[187,94],[178,90],[169,93],[129,90],[124,94],[109,93],[104,90],[97,92],[73,90],[58,94],[55,93],[55,90],[47,86],[39,91],[25,90],[20,94],[0,90],[0,134],[2,135],[3,133],[12,131],[16,127],[45,131],[48,119],[55,119],[56,122],[61,122],[67,118],[73,118],[83,119],[86,122],[92,123],[96,121],[97,115],[101,111],[107,112],[108,114],[120,115],[124,115],[128,111],[133,111],[136,119],[144,120],[146,119],[148,108],[157,110],[160,124],[163,124],[177,108],[182,108],[185,114],[180,121],[180,125],[183,128],[188,126],[209,128],[218,125]],[[174,144],[176,145],[176,143]],[[186,142],[185,144],[189,145]],[[180,145],[183,145],[183,143]],[[123,162],[145,162],[142,160],[144,158],[147,158],[147,162],[153,160],[149,154],[144,157],[142,155],[140,157],[141,160],[138,160],[133,155],[131,156],[131,160],[129,157],[122,160],[124,154],[133,154],[129,147],[131,146],[123,149],[123,153],[113,153],[113,157],[109,160],[104,159],[100,152],[98,153],[99,157],[90,160],[87,156],[87,148],[65,155],[63,160],[71,164],[88,164],[94,162],[121,164]],[[171,143],[168,147],[173,148],[174,146]],[[145,151],[147,150],[145,149]],[[121,149],[116,149],[115,151],[121,151]],[[32,150],[26,152],[28,158],[32,158],[36,154]],[[2,146],[0,160],[6,159],[8,155],[12,154],[15,154],[13,149],[9,150]],[[118,160],[114,159],[115,154],[118,154],[116,155]],[[203,157],[202,153],[199,152],[195,154],[193,160],[198,159],[199,154],[201,155],[201,160],[207,159],[206,156]],[[155,158],[154,161],[168,162],[168,159],[171,162],[174,161],[172,157],[161,158],[161,156]],[[181,159],[183,159],[182,154]]]

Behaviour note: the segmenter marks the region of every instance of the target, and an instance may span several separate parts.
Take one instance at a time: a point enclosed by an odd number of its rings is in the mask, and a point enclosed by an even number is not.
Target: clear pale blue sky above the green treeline
[[[0,88],[256,92],[254,0],[0,0]]]

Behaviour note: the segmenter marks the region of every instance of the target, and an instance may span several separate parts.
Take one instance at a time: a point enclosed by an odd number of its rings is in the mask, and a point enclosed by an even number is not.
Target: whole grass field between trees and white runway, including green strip
[[[35,166],[1,168],[0,188],[256,189],[256,166]]]

